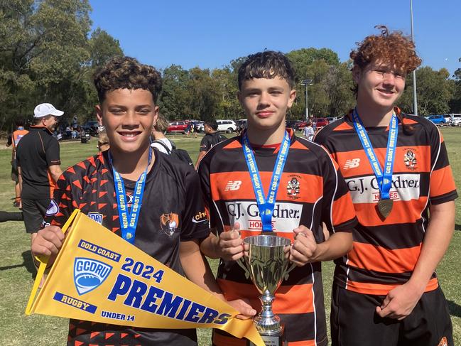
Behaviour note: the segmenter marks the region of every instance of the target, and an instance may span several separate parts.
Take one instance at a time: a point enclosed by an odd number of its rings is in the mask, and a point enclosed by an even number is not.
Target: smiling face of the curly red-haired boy
[[[359,86],[358,102],[393,107],[405,89],[406,75],[388,63],[375,60],[363,69],[355,66],[352,75]]]

